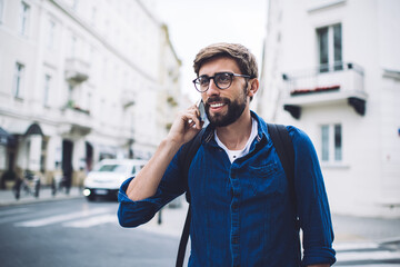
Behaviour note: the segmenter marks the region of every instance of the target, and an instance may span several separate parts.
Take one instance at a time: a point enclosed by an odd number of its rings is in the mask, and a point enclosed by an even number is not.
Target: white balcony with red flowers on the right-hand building
[[[363,69],[354,63],[319,66],[301,72],[282,75],[286,88],[283,108],[299,119],[302,107],[343,102],[356,112],[366,113],[368,95],[363,86]]]

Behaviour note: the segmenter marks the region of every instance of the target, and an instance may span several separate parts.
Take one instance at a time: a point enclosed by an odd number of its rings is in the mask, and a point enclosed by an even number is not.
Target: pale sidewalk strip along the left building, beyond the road
[[[16,199],[12,190],[0,190],[0,207],[4,206],[16,206],[22,204],[31,204],[31,202],[44,202],[44,201],[54,201],[54,200],[63,200],[71,198],[82,198],[83,195],[78,187],[71,187],[69,195],[64,191],[58,191],[56,196],[51,195],[50,187],[40,188],[39,197],[36,198],[33,195],[27,195],[24,191],[21,191],[21,196],[19,199]]]

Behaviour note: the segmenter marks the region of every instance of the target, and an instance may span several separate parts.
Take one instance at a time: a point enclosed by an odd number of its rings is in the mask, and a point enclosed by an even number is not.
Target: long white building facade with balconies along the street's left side
[[[152,4],[0,0],[1,174],[29,169],[47,184],[102,158],[151,156],[181,65]]]

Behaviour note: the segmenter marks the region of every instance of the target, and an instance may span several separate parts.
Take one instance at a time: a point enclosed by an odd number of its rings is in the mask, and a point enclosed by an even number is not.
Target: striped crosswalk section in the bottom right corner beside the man
[[[392,250],[374,243],[351,243],[334,246],[337,264],[334,266],[400,266],[400,251]]]

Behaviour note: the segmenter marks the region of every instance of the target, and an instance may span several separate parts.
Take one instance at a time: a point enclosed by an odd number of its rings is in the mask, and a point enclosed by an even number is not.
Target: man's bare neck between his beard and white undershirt
[[[229,150],[243,149],[251,135],[251,113],[249,107],[237,121],[226,127],[217,127],[218,138]]]

